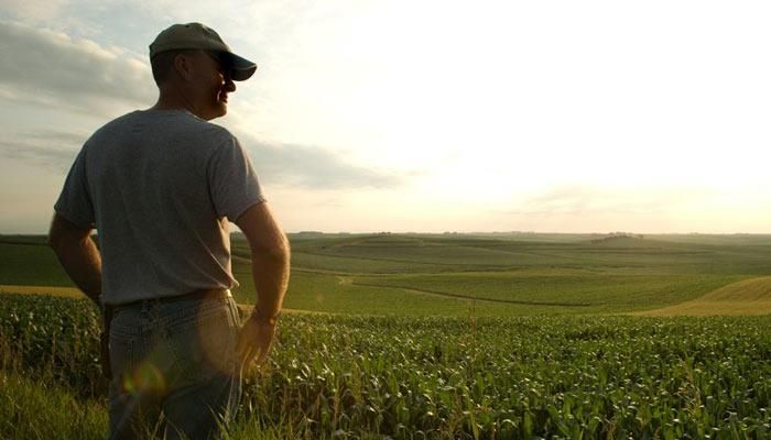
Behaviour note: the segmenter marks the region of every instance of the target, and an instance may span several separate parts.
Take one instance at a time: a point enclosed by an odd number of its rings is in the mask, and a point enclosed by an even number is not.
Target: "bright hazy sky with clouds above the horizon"
[[[771,233],[771,3],[709,0],[0,0],[0,233],[193,21],[289,232]]]

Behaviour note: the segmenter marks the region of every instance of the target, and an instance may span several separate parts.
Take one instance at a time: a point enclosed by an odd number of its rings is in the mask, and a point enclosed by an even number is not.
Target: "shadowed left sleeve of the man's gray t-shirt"
[[[93,229],[95,224],[94,204],[88,190],[86,175],[86,147],[84,146],[69,168],[64,188],[54,205],[54,210],[65,219],[83,229]]]

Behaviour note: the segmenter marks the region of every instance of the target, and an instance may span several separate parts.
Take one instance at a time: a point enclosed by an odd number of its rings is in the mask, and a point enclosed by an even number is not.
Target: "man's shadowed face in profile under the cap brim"
[[[196,52],[192,79],[196,116],[205,120],[224,117],[228,112],[228,94],[236,91],[230,68],[217,53]]]

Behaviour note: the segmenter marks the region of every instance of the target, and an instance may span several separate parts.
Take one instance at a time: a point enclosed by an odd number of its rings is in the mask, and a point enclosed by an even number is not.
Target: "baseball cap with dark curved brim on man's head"
[[[235,81],[249,79],[257,70],[257,64],[234,54],[211,28],[200,23],[173,24],[162,31],[150,44],[150,59],[162,52],[185,48],[219,53],[229,62]]]

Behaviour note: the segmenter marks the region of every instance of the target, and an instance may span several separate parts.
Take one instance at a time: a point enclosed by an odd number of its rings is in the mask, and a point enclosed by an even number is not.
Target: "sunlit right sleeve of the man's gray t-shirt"
[[[229,136],[214,153],[208,166],[215,211],[234,221],[253,205],[265,201],[254,167],[238,139]]]

